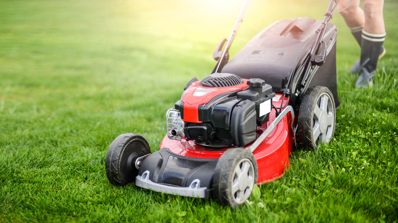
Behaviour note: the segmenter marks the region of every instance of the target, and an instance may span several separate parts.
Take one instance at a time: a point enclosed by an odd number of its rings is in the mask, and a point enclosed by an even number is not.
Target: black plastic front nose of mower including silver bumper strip
[[[217,160],[186,157],[162,148],[142,161],[135,185],[168,194],[208,199]]]

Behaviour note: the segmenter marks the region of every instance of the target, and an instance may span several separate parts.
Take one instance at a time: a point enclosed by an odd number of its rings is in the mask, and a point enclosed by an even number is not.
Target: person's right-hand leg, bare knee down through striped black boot
[[[364,0],[365,26],[362,31],[360,70],[355,86],[367,87],[376,74],[379,55],[386,36],[383,19],[384,0]]]

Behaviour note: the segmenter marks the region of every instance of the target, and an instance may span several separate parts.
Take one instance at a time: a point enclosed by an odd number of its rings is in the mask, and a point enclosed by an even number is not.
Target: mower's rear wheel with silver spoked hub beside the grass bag
[[[329,143],[336,126],[333,94],[327,87],[307,90],[300,103],[296,142],[300,148],[316,149]]]

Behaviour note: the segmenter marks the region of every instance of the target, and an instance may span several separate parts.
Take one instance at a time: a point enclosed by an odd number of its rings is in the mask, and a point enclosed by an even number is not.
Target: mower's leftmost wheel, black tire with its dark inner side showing
[[[105,172],[111,184],[123,186],[135,180],[138,157],[150,154],[151,149],[141,135],[126,133],[115,138],[108,149]]]

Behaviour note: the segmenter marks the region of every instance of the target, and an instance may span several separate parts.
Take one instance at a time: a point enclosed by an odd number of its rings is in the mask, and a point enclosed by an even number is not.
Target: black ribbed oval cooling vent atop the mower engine
[[[213,73],[199,83],[203,87],[219,88],[240,85],[243,79],[231,73]]]

